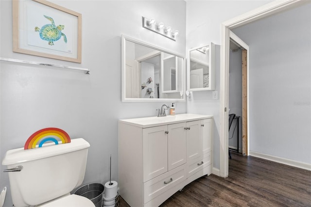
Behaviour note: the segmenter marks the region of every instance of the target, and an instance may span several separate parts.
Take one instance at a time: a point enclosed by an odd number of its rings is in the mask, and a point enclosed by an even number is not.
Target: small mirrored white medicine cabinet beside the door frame
[[[215,44],[192,48],[188,52],[187,91],[215,89]]]

